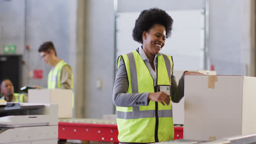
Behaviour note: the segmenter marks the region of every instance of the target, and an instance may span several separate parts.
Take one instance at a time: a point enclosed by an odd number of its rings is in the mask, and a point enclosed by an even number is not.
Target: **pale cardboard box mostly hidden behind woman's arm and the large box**
[[[174,70],[173,75],[176,77],[176,82],[178,84],[179,79],[181,79],[185,70]],[[214,70],[189,70],[197,71],[205,75],[216,75]],[[172,115],[174,124],[184,124],[184,98],[179,101],[179,103],[172,103]]]

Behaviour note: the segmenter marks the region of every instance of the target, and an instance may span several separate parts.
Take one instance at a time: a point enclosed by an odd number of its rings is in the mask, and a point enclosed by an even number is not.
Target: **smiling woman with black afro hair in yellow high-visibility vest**
[[[118,58],[113,102],[120,143],[173,140],[171,102],[178,103],[184,96],[184,75],[177,86],[172,57],[159,53],[172,22],[164,10],[143,10],[132,33],[142,46]]]

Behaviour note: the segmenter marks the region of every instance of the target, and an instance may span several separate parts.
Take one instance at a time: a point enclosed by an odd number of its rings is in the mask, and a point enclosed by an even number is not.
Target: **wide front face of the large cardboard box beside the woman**
[[[184,139],[222,139],[242,134],[243,76],[217,76],[208,88],[208,76],[185,76]]]

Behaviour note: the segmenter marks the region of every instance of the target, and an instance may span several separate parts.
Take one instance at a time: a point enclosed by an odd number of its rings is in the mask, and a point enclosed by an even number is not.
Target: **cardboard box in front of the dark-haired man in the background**
[[[28,103],[59,105],[59,118],[72,117],[71,89],[28,89]]]

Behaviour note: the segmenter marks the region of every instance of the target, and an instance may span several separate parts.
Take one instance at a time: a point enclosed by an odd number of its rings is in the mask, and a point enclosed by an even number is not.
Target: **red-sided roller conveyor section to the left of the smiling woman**
[[[59,119],[59,139],[118,143],[117,122],[109,119]]]

